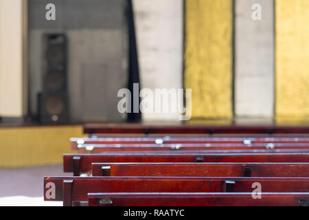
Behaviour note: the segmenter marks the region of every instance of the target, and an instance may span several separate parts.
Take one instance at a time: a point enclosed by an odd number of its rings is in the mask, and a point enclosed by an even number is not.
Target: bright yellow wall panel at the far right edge
[[[276,116],[309,117],[309,1],[276,1]]]

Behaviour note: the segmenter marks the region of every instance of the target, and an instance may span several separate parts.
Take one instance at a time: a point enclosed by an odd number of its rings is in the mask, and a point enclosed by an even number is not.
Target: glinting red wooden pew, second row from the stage
[[[309,143],[309,137],[71,137],[71,148],[78,144],[265,144]]]

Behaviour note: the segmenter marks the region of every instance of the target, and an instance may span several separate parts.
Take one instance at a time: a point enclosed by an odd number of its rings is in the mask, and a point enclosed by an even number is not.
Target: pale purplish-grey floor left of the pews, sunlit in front
[[[25,168],[0,168],[0,206],[62,206],[43,201],[43,177],[69,175],[62,164]]]

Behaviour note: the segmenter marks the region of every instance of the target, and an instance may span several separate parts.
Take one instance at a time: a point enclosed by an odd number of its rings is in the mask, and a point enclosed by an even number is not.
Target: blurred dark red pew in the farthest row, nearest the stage
[[[84,133],[139,134],[308,134],[309,126],[207,125],[207,124],[84,124]]]

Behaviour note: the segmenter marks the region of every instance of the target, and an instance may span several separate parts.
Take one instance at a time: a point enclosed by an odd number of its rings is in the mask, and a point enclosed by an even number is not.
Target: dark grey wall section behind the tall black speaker
[[[56,5],[56,21],[45,5]],[[127,5],[123,0],[28,0],[30,114],[42,91],[43,34],[67,35],[67,85],[72,122],[119,122],[117,91],[128,87]]]

